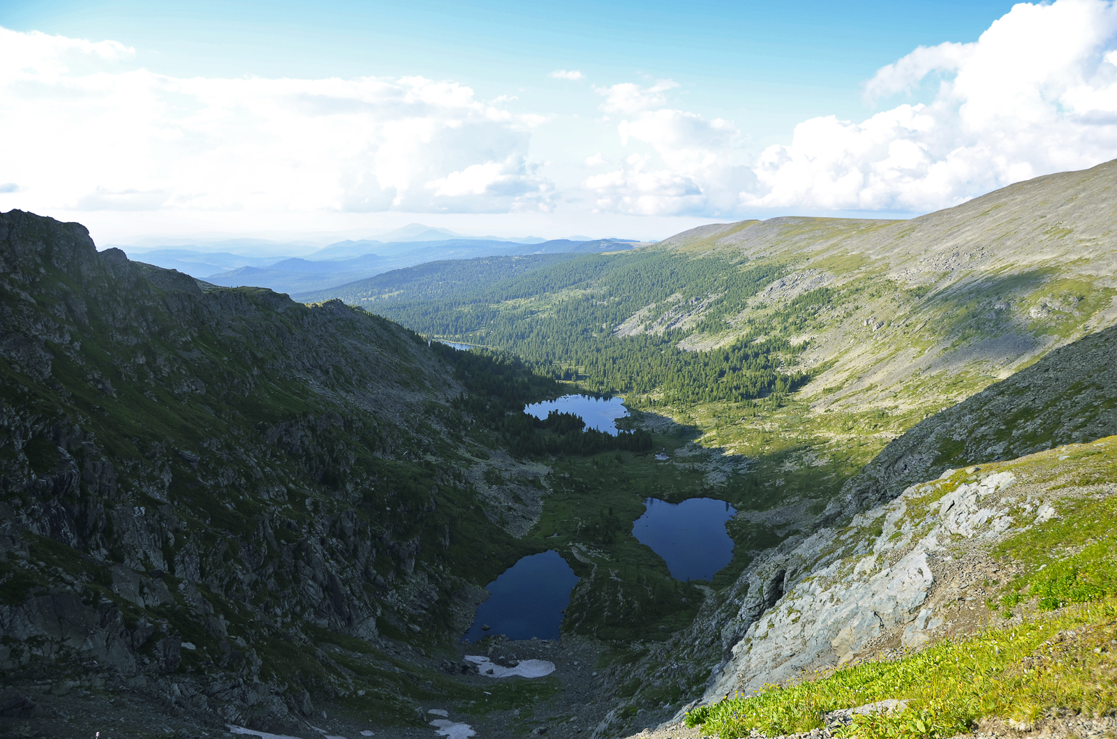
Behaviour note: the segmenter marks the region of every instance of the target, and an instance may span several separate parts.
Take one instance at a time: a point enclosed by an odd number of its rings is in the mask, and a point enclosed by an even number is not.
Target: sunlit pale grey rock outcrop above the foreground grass
[[[954,470],[951,471],[955,472]],[[748,624],[704,697],[753,692],[803,670],[841,664],[892,634],[918,646],[946,623],[942,588],[948,550],[962,540],[995,540],[1048,520],[1056,495],[1013,496],[1011,471],[962,482],[965,473],[913,486],[896,500],[771,553],[745,589],[735,622]],[[763,615],[765,575],[795,573]],[[786,577],[786,576],[785,576]]]

